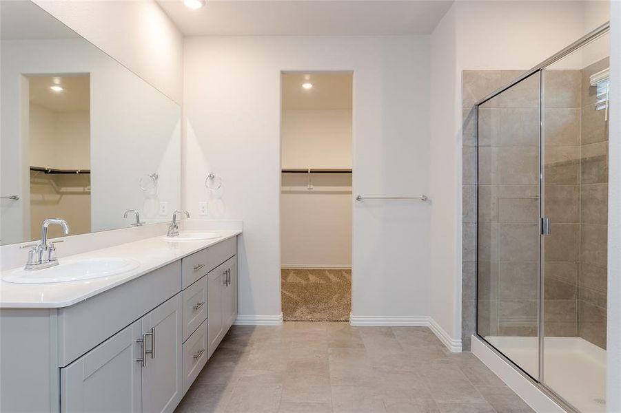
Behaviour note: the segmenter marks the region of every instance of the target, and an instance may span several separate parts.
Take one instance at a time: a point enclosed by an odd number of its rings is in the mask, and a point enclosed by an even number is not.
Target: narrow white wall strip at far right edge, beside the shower
[[[607,410],[621,412],[621,2],[611,3]]]

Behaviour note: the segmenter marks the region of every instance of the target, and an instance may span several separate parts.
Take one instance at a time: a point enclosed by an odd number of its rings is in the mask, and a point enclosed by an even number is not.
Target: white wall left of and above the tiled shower
[[[456,1],[431,34],[431,317],[454,339],[461,334],[462,71],[527,70],[605,15],[597,1]]]

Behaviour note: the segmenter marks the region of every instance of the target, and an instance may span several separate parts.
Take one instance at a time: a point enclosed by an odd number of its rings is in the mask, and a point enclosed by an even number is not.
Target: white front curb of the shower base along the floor
[[[565,410],[542,392],[532,381],[524,377],[516,368],[496,352],[491,350],[476,335],[472,336],[472,354],[489,367],[500,380],[524,400],[536,412],[564,413]]]

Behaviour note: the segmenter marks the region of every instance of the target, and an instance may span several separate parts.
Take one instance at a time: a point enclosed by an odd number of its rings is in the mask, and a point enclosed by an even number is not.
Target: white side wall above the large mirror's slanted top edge
[[[154,0],[34,3],[181,103],[183,36]]]

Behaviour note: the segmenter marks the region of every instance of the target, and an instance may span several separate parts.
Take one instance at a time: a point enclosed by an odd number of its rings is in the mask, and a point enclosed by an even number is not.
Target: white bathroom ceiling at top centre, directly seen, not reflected
[[[453,0],[157,0],[185,36],[430,34]]]

